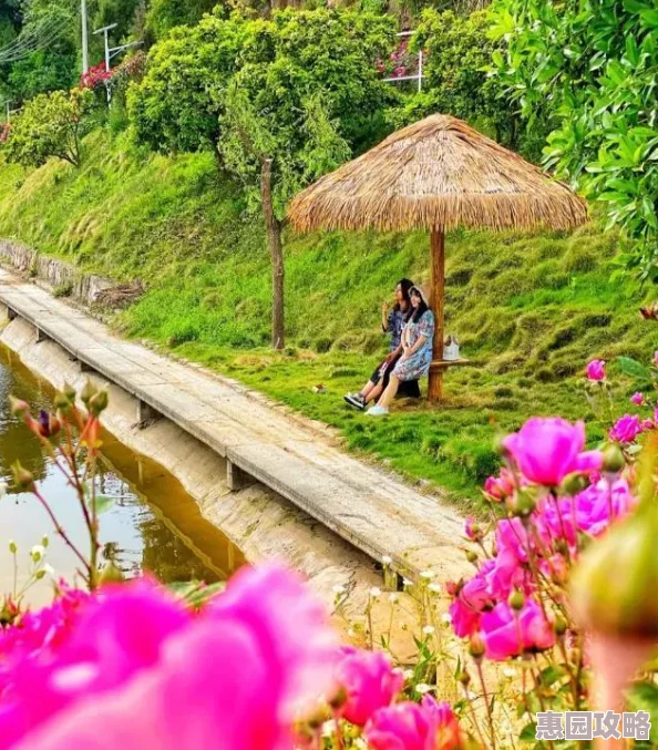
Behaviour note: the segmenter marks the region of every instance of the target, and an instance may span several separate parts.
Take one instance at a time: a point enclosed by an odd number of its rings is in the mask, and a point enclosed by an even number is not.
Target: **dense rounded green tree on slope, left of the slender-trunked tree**
[[[128,90],[137,141],[154,151],[217,153],[226,84],[236,70],[245,19],[206,16],[155,44],[146,74]]]

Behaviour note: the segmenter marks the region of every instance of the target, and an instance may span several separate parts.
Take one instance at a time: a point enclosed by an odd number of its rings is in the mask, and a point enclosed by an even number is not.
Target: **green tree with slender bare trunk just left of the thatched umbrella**
[[[285,207],[300,187],[381,135],[392,90],[374,61],[392,19],[342,9],[282,11],[248,24],[220,117],[223,163],[258,202],[273,263],[273,347],[285,342]]]

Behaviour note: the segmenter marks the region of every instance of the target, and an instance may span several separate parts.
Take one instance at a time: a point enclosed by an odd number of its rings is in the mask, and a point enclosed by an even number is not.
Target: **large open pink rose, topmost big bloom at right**
[[[528,481],[546,486],[558,485],[573,472],[597,471],[603,464],[600,451],[583,452],[583,422],[570,424],[559,417],[534,417],[503,444]]]

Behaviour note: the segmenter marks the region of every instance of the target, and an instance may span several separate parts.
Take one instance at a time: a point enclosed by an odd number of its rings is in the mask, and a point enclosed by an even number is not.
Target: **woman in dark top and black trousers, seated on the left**
[[[402,356],[402,329],[407,321],[407,316],[411,310],[409,300],[409,290],[413,287],[413,281],[400,279],[395,285],[395,304],[392,309],[389,302],[384,301],[381,306],[381,329],[391,337],[389,345],[389,355],[377,367],[370,380],[358,393],[347,393],[343,398],[356,409],[363,410],[366,407],[378,399],[389,384],[390,373],[395,362]]]

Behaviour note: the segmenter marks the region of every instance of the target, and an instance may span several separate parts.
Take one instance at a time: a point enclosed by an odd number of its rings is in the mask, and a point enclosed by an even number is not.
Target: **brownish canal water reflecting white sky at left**
[[[35,379],[16,355],[0,345],[0,479],[11,483],[10,466],[17,459],[37,477],[42,494],[74,541],[86,548],[80,507],[71,487],[44,456],[37,438],[9,411],[9,394],[23,399],[33,411],[50,409],[52,389]],[[103,555],[112,556],[127,574],[150,571],[165,583],[216,582],[243,563],[239,552],[215,526],[205,521],[194,500],[162,466],[136,455],[107,432],[99,461],[100,491],[115,497],[101,516]],[[54,534],[37,500],[11,492],[0,500],[0,592],[13,589],[10,541],[19,548],[19,587],[29,568],[30,548],[48,534],[47,561],[56,577],[73,579],[75,559]],[[52,579],[30,590],[29,600],[44,603]]]

